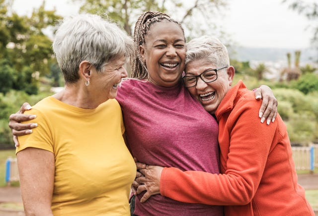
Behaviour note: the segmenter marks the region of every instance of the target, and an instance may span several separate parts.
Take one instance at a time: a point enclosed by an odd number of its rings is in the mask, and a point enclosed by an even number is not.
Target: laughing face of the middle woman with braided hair
[[[164,87],[175,86],[184,69],[185,52],[185,39],[178,24],[168,20],[153,24],[140,46],[149,81]]]

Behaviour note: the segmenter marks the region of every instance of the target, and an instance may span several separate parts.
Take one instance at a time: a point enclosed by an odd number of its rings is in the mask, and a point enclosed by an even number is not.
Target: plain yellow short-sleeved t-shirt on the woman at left
[[[130,215],[136,165],[122,137],[116,100],[83,109],[48,97],[26,113],[37,115],[32,122],[38,127],[18,138],[16,152],[35,147],[54,153],[55,216]]]

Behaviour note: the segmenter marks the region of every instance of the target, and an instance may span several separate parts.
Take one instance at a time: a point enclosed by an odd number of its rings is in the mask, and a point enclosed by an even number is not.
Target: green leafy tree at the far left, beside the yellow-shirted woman
[[[12,11],[12,3],[13,0],[0,0],[0,61],[4,63],[0,73],[5,76],[5,88],[0,92],[6,93],[12,88],[36,94],[36,74],[50,73],[49,65],[56,62],[52,40],[44,30],[62,17],[56,15],[55,10],[45,10],[45,1],[30,17]]]

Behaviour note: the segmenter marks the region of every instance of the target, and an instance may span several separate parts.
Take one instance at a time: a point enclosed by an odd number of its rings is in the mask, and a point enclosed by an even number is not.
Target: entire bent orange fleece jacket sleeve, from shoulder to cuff
[[[232,110],[223,123],[220,120],[220,158],[224,161],[221,164],[224,174],[165,167],[160,177],[160,194],[186,203],[249,203],[262,178],[277,126],[276,122],[270,125],[260,123],[259,118],[255,117],[259,105],[254,101],[244,101],[244,105]],[[222,142],[225,141],[228,144],[224,147]],[[228,151],[226,155],[223,155],[222,148]]]

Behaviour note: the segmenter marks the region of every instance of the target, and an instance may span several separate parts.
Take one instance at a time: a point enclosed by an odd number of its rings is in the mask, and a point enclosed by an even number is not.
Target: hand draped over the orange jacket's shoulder
[[[277,115],[278,102],[275,98],[273,91],[266,85],[261,85],[255,91],[255,99],[262,100],[261,107],[259,109],[258,116],[261,118],[260,122],[264,122],[266,119],[266,124],[274,122]]]

